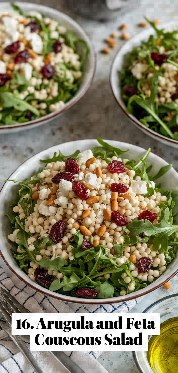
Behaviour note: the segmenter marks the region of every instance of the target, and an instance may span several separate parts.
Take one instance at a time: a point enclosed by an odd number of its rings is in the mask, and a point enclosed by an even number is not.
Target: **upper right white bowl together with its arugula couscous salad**
[[[111,68],[111,88],[121,109],[146,134],[178,145],[178,31],[170,22],[131,38]],[[117,81],[115,79],[117,78]]]

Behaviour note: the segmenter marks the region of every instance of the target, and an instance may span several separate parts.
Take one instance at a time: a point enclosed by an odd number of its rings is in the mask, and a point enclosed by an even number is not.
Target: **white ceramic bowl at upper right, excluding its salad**
[[[178,29],[178,22],[167,22],[165,24],[160,24],[158,28],[164,28],[167,31],[173,29]],[[153,139],[162,142],[165,145],[172,146],[178,149],[178,141],[171,138],[165,137],[153,131],[150,128],[144,126],[136,117],[127,112],[127,108],[122,98],[121,88],[120,88],[120,78],[118,71],[121,71],[124,67],[124,56],[125,54],[131,52],[134,48],[139,47],[142,41],[147,41],[150,35],[154,35],[155,31],[152,27],[142,30],[139,34],[133,36],[130,40],[126,41],[123,46],[118,50],[114,61],[112,62],[110,71],[110,84],[112,93],[119,104],[120,108],[123,110],[125,115],[131,120],[134,125],[141,129],[145,134],[151,136]]]

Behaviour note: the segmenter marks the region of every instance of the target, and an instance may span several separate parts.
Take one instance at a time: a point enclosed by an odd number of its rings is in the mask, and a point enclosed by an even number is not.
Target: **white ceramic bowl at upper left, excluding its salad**
[[[92,84],[94,75],[95,75],[95,70],[96,70],[96,55],[95,51],[93,49],[93,44],[88,36],[88,34],[85,32],[85,30],[77,23],[75,22],[72,18],[67,16],[64,13],[59,12],[56,9],[40,5],[40,4],[35,4],[35,3],[23,3],[23,2],[16,2],[16,4],[25,12],[28,13],[30,11],[35,11],[35,12],[40,12],[46,15],[47,17],[51,19],[55,19],[61,23],[61,25],[66,26],[67,29],[70,29],[74,32],[74,35],[77,37],[80,37],[81,39],[85,40],[86,43],[88,44],[89,47],[89,56],[88,59],[85,62],[84,65],[84,77],[83,80],[79,86],[78,91],[76,94],[69,100],[63,109],[58,110],[54,113],[50,113],[48,115],[45,115],[39,119],[31,120],[30,122],[25,122],[25,123],[18,123],[15,125],[11,126],[0,126],[0,134],[2,133],[9,133],[9,132],[18,132],[22,131],[22,129],[32,129],[35,127],[38,127],[46,122],[49,122],[50,120],[54,119],[55,117],[63,114],[67,109],[69,109],[71,106],[77,103],[77,101],[80,100],[80,98],[85,95],[85,93],[88,91],[90,85]],[[2,10],[12,10],[12,7],[10,6],[10,3],[0,3],[0,12]]]

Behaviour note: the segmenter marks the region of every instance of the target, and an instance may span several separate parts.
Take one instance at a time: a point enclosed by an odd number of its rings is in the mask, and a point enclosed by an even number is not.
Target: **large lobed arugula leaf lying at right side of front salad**
[[[146,232],[148,236],[154,236],[153,239],[153,251],[159,249],[161,245],[161,252],[164,253],[168,250],[168,237],[178,230],[178,226],[172,225],[170,219],[169,207],[162,210],[161,221],[158,225],[152,224],[149,220],[137,220],[133,219],[131,224],[127,225],[128,230],[132,235],[140,235],[140,233]]]

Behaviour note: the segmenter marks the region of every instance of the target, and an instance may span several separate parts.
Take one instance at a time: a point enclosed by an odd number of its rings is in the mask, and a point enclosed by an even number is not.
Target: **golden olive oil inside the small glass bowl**
[[[178,317],[160,324],[160,335],[149,340],[147,358],[154,373],[178,373]]]

